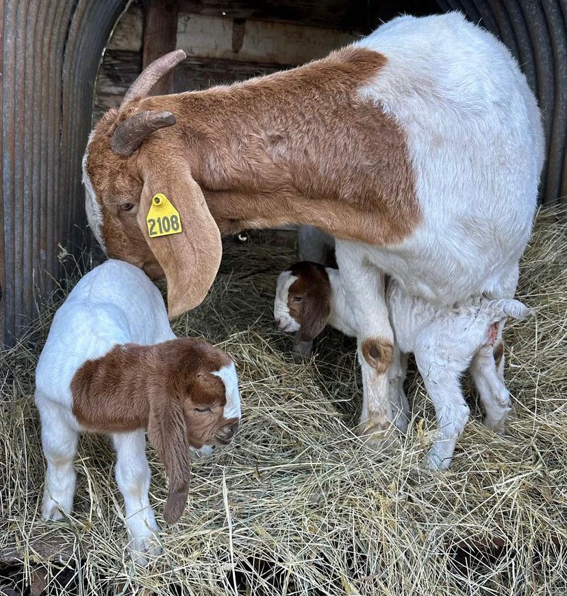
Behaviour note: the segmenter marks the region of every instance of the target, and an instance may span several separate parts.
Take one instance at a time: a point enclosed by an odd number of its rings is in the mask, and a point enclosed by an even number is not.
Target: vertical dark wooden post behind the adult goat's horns
[[[142,69],[175,49],[177,44],[177,0],[146,0],[144,2],[144,42]],[[157,82],[151,95],[173,93],[173,71]]]

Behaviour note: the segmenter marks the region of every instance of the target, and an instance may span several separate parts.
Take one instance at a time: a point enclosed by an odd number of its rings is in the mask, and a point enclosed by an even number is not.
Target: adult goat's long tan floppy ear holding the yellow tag
[[[203,302],[218,271],[223,245],[201,188],[184,160],[162,161],[142,169],[138,225],[166,274],[168,313],[173,319]],[[150,237],[146,219],[157,193],[179,211],[181,233]]]

